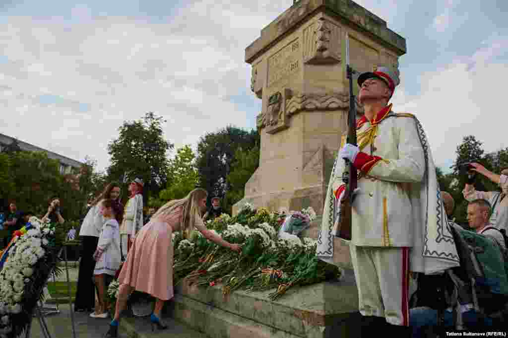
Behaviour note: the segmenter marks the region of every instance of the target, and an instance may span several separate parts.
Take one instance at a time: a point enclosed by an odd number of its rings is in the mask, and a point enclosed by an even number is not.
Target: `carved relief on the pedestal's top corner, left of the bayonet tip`
[[[341,60],[340,27],[320,18],[303,31],[306,64],[336,64]]]

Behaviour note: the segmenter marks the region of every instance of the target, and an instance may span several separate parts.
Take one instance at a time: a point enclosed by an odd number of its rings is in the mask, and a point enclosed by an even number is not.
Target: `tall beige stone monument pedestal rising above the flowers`
[[[323,212],[349,109],[346,33],[353,69],[398,69],[405,39],[351,0],[295,2],[245,49],[252,65],[250,88],[262,100],[257,118],[261,151],[260,166],[245,185],[245,197],[233,206],[234,214],[245,202],[271,211],[312,206],[317,214]],[[362,107],[357,105],[357,111]],[[311,237],[318,230],[310,231]]]

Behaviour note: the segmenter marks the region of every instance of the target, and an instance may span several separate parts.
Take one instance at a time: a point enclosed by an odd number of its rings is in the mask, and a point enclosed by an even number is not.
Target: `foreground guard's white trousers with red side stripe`
[[[363,316],[385,317],[409,325],[409,248],[350,245],[359,310]]]

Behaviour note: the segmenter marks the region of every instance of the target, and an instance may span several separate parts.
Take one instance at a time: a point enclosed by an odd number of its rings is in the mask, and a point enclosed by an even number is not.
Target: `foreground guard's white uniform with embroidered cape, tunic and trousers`
[[[360,175],[350,251],[359,310],[364,316],[407,326],[409,271],[429,273],[459,264],[430,149],[418,120],[393,113],[391,105],[372,121],[360,119],[357,137],[361,152],[355,166]],[[344,143],[345,137],[341,147]],[[332,264],[333,204],[345,187],[344,166],[337,159],[332,170],[316,249],[318,258]],[[436,241],[439,234],[448,235],[451,242]],[[432,258],[430,264],[425,256]]]

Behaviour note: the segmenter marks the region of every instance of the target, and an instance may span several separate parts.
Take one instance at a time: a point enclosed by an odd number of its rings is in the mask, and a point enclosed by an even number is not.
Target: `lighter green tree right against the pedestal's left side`
[[[232,206],[245,195],[245,183],[259,167],[259,147],[251,149],[236,149],[234,160],[231,164],[231,171],[227,176],[229,190],[226,194],[226,205],[229,213]]]

